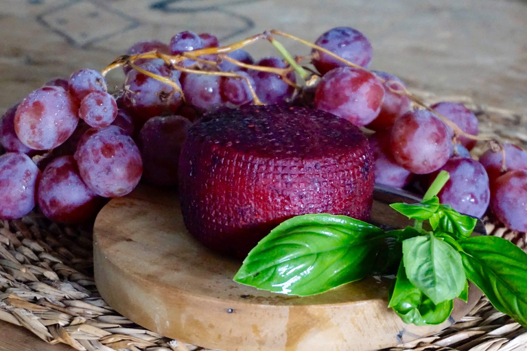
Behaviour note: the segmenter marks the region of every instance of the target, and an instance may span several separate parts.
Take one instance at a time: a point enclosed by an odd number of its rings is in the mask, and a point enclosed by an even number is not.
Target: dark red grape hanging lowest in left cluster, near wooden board
[[[42,213],[60,223],[82,223],[94,217],[102,200],[80,178],[73,156],[56,158],[47,165],[36,198]]]

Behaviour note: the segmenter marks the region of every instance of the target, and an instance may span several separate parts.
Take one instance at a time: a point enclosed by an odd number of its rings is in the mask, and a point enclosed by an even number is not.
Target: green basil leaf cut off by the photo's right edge
[[[469,280],[498,311],[527,327],[527,253],[499,237],[470,237],[458,243]]]

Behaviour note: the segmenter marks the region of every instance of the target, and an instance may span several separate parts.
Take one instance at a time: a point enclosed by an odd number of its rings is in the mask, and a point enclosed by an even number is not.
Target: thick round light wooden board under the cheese
[[[406,225],[387,207],[395,198],[380,195],[372,220]],[[238,285],[232,278],[241,262],[191,237],[176,193],[146,187],[110,201],[95,221],[93,239],[95,282],[111,306],[145,328],[207,348],[386,348],[445,328],[481,296],[471,287],[469,302],[456,300],[447,322],[417,327],[387,308],[388,282],[374,278],[306,298]]]

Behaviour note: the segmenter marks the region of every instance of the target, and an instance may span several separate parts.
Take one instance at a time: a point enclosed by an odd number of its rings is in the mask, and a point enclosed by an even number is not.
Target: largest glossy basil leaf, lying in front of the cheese
[[[293,217],[245,258],[235,282],[288,295],[314,295],[371,274],[386,233],[327,214]]]

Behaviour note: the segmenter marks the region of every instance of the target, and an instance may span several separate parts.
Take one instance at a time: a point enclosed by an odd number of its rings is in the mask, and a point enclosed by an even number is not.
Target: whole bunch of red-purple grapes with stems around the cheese
[[[293,58],[275,36],[312,51]],[[243,48],[257,40],[270,41],[284,59],[255,61]],[[180,32],[169,43],[132,45],[102,73],[82,69],[51,80],[0,121],[0,218],[22,217],[38,204],[50,219],[80,223],[104,197],[130,193],[141,176],[175,187],[180,147],[196,119],[246,104],[300,104],[371,135],[378,184],[416,190],[446,170],[441,202],[476,217],[490,207],[506,226],[526,232],[527,154],[504,144],[471,158],[482,139],[477,117],[453,102],[425,106],[395,75],[369,71],[372,55],[366,36],[349,27],[330,29],[314,44],[270,31],[226,47],[212,34]],[[117,67],[124,85],[110,95],[104,75]]]

